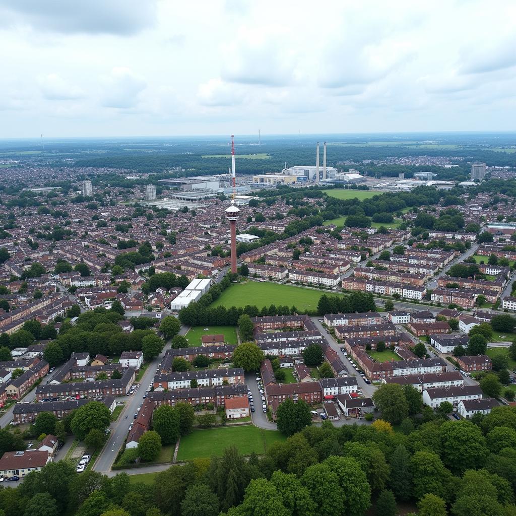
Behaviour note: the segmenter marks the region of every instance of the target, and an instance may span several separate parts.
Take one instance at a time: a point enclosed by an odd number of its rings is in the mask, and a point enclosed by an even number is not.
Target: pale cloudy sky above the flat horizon
[[[0,0],[0,138],[516,129],[516,2]]]

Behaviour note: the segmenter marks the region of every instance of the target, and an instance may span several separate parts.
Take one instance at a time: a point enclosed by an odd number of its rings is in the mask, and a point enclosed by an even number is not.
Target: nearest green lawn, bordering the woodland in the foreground
[[[231,445],[244,455],[253,451],[263,455],[271,444],[285,439],[278,431],[263,430],[254,425],[193,430],[181,438],[178,461],[220,456],[224,448]]]

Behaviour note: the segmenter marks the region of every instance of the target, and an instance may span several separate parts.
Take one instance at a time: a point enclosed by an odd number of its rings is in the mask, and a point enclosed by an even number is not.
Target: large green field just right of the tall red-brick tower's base
[[[244,308],[246,304],[254,304],[261,309],[274,303],[276,306],[279,304],[286,304],[288,307],[295,305],[299,313],[304,313],[305,310],[316,310],[319,298],[323,294],[342,295],[335,291],[318,291],[280,283],[248,281],[229,286],[211,306],[218,307],[222,304],[226,308],[233,306]],[[187,337],[188,335],[189,332]]]

